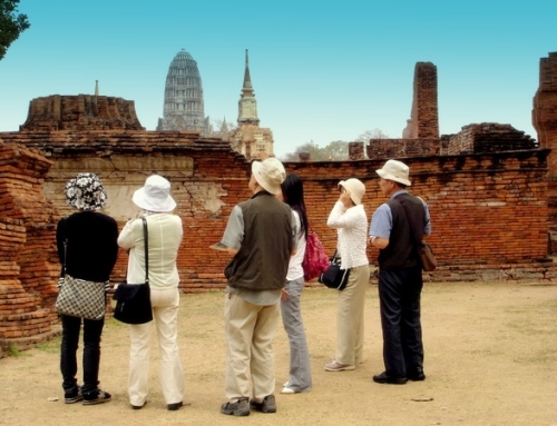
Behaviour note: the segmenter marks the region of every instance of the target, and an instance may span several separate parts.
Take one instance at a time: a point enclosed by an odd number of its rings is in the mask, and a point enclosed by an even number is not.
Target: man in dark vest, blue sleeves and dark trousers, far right
[[[377,170],[379,186],[389,201],[373,212],[370,241],[379,248],[379,303],[385,370],[373,376],[381,384],[403,385],[423,380],[423,344],[420,321],[422,266],[417,246],[430,235],[429,210],[407,187],[410,169],[389,160]]]

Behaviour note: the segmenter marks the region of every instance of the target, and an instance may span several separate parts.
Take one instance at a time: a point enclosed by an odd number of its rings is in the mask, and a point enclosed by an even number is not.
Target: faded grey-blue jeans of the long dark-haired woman
[[[307,392],[312,387],[310,353],[300,310],[303,287],[303,277],[286,280],[284,288],[289,291],[289,299],[281,301],[282,323],[290,341],[289,387],[295,392]]]

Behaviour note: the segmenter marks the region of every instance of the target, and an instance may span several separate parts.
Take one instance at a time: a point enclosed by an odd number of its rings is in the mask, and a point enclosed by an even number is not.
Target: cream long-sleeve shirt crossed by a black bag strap
[[[145,216],[149,234],[149,285],[177,287],[179,284],[176,258],[183,229],[179,216],[150,214]],[[145,248],[141,219],[129,220],[118,236],[118,246],[128,248],[127,281],[145,283]]]

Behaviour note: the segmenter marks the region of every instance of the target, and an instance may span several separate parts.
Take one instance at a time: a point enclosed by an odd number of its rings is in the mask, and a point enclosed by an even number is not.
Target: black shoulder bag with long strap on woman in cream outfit
[[[126,324],[145,324],[153,320],[149,288],[149,234],[147,220],[141,218],[141,221],[145,240],[145,283],[120,283],[118,287],[116,287],[113,297],[117,300],[114,317]]]

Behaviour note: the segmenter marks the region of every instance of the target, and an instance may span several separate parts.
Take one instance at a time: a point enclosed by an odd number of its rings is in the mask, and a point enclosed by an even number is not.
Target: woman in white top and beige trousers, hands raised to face
[[[339,291],[336,314],[336,354],[325,364],[328,371],[344,371],[363,361],[363,308],[370,281],[370,265],[365,254],[368,216],[362,198],[365,186],[351,178],[339,182],[341,192],[326,225],[338,230],[336,248],[341,269],[349,269],[346,287]]]

